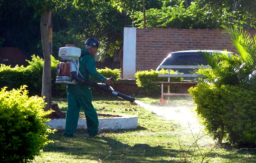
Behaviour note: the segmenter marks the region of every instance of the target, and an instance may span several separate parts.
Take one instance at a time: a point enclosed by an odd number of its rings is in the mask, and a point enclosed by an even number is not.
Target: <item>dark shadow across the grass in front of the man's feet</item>
[[[45,152],[61,152],[64,155],[85,155],[94,158],[92,160],[104,160],[108,163],[117,162],[140,162],[140,163],[164,163],[167,160],[178,156],[181,151],[162,146],[141,146],[135,147],[134,144],[122,143],[117,141],[120,134],[108,133],[95,137],[88,137],[86,130],[77,130],[75,137],[66,138],[63,131],[49,135],[49,139],[55,143],[45,146]],[[133,139],[133,138],[131,138]],[[175,161],[183,162],[183,161]]]

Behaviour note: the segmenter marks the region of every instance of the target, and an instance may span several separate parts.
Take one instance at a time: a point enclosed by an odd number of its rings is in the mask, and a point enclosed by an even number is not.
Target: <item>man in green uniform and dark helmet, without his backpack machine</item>
[[[94,56],[98,52],[99,42],[96,38],[90,37],[85,42],[85,49],[81,50],[79,58],[79,71],[83,78],[89,79],[92,76],[98,82],[110,85],[112,80],[105,78],[97,72]],[[80,109],[84,111],[89,136],[98,133],[98,116],[92,105],[91,87],[83,84],[67,85],[67,112],[65,137],[71,137],[76,132]]]

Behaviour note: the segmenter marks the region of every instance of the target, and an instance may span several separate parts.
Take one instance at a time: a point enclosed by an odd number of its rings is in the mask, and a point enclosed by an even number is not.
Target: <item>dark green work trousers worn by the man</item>
[[[71,87],[71,88],[70,88]],[[74,87],[74,89],[72,89]],[[77,123],[79,119],[79,112],[82,108],[85,118],[89,136],[95,136],[98,133],[98,116],[94,109],[92,101],[92,93],[90,87],[79,90],[75,86],[67,87],[67,113],[64,136],[73,136],[76,132]]]

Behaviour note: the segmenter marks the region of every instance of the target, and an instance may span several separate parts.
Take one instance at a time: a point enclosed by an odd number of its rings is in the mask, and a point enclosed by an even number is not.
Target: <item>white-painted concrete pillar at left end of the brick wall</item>
[[[136,73],[136,28],[124,28],[123,79],[135,79]]]

